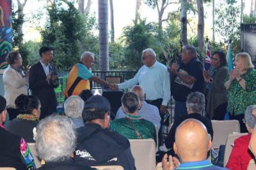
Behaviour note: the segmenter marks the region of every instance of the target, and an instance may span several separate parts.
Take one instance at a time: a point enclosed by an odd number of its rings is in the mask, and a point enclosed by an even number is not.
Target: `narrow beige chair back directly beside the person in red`
[[[230,157],[230,153],[232,152],[232,148],[234,146],[234,142],[237,138],[240,138],[241,136],[244,136],[248,133],[234,133],[229,134],[228,139],[225,146],[225,153],[224,153],[224,167],[227,165],[228,159]]]

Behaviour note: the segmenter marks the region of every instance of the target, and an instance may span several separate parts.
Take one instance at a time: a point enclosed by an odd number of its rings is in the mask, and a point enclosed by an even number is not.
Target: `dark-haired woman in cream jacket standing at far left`
[[[6,107],[9,119],[12,120],[19,114],[17,110],[15,110],[15,99],[20,94],[28,94],[26,85],[28,85],[29,71],[25,74],[22,71],[22,58],[19,52],[10,52],[6,57],[6,61],[9,65],[3,73],[4,98],[7,101]]]

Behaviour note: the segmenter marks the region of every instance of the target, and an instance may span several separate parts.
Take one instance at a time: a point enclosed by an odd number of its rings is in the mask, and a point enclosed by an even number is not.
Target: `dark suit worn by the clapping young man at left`
[[[57,74],[56,69],[52,64],[49,65],[49,72]],[[59,83],[55,85],[50,80],[46,81],[44,68],[40,62],[36,63],[29,71],[29,89],[32,90],[32,95],[38,97],[41,103],[40,119],[51,115],[56,111],[57,99],[54,88],[57,88]]]

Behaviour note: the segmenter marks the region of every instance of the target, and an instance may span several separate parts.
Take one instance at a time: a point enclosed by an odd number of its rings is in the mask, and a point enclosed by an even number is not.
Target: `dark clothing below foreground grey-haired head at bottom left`
[[[86,167],[75,164],[72,160],[64,160],[59,162],[47,162],[44,166],[38,168],[40,170],[93,170],[95,168]]]

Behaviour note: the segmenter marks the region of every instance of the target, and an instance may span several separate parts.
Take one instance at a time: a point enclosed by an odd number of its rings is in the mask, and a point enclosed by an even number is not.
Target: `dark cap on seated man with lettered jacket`
[[[111,110],[108,99],[100,95],[89,97],[84,104],[84,108],[98,108],[106,111]]]

